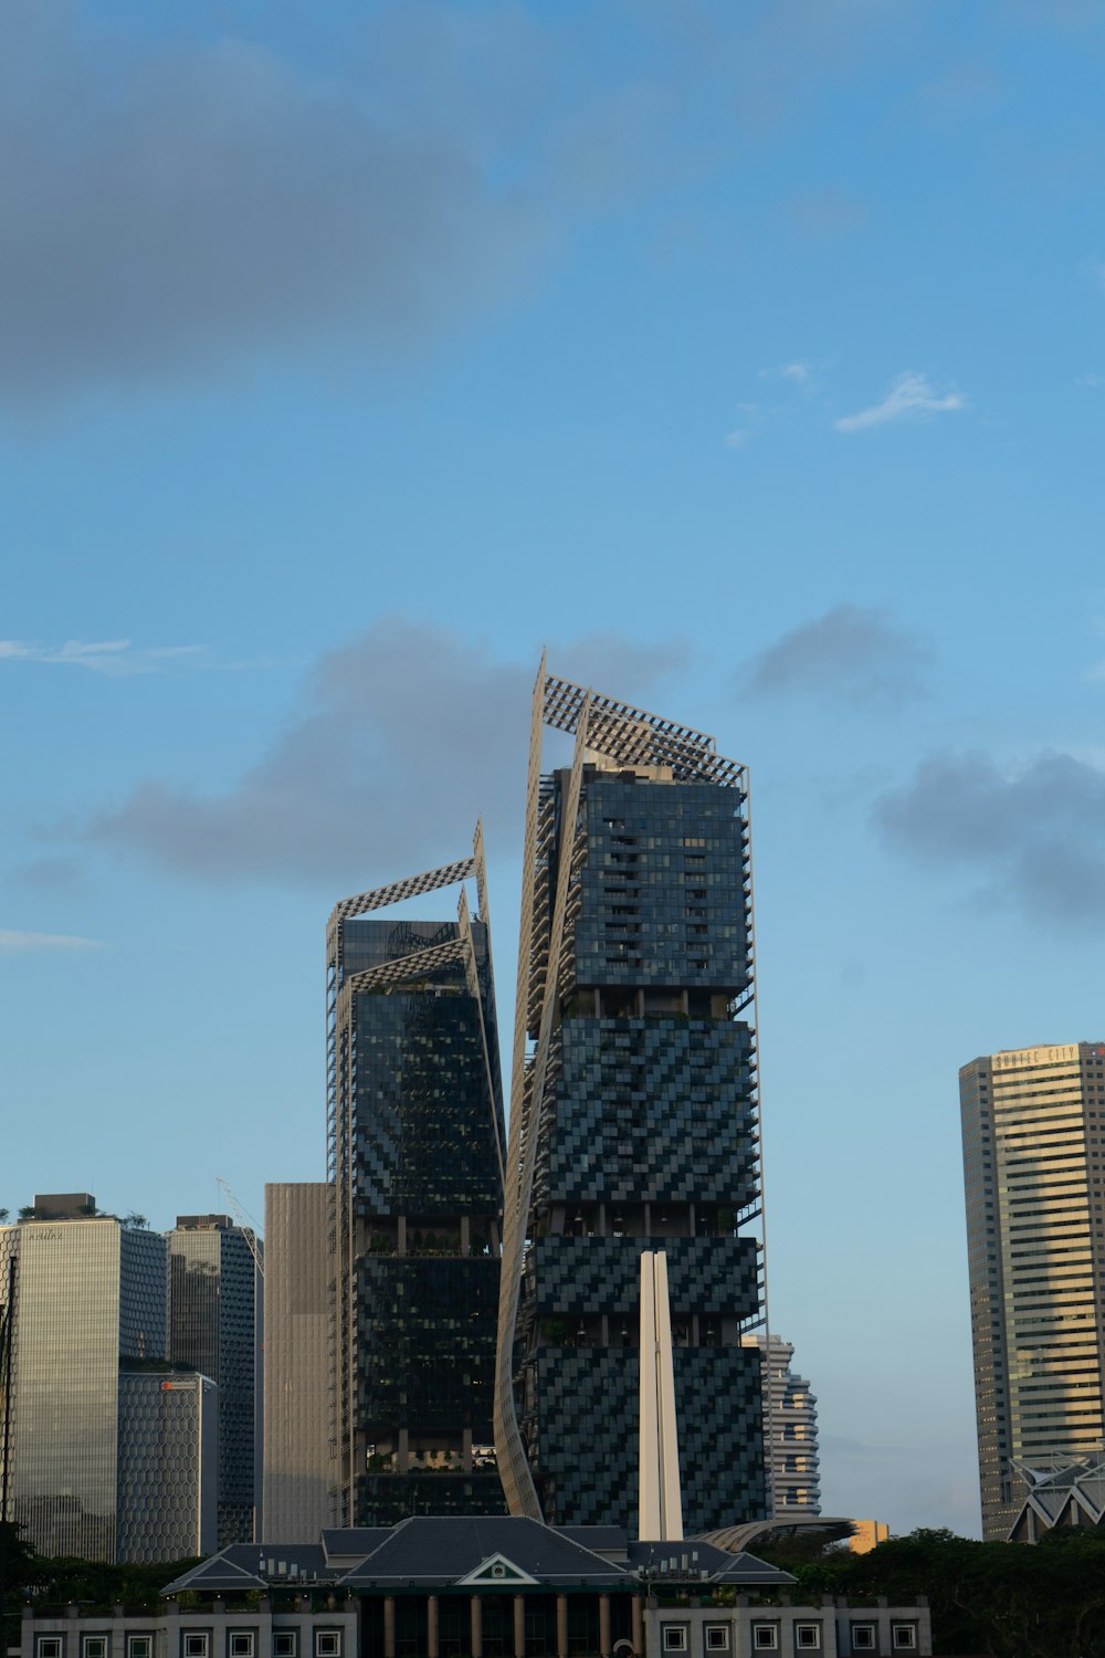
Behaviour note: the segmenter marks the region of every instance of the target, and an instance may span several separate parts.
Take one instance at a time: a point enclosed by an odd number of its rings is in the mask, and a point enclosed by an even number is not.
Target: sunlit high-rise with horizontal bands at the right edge
[[[1014,1464],[1105,1441],[1105,1045],[1014,1048],[959,1071],[982,1534]]]

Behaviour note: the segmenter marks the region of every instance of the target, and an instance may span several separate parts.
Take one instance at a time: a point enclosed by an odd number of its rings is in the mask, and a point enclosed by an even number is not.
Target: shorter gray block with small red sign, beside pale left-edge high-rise
[[[219,1547],[219,1389],[184,1371],[119,1376],[118,1560]]]

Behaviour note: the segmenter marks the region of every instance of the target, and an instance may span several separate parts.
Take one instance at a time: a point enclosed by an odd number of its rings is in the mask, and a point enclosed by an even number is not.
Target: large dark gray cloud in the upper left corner
[[[509,293],[542,242],[464,109],[419,131],[240,40],[114,53],[43,8],[36,33],[23,7],[0,22],[10,403],[350,328],[404,350]]]

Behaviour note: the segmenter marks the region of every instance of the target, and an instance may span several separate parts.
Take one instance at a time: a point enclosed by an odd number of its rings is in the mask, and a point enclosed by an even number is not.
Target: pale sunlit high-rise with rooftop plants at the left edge
[[[35,1197],[0,1227],[0,1298],[12,1330],[0,1409],[3,1519],[40,1554],[114,1560],[123,1378],[166,1355],[166,1244],[98,1215],[88,1192]],[[5,1433],[7,1426],[7,1433]]]

